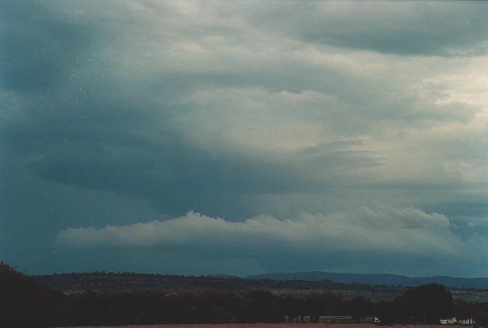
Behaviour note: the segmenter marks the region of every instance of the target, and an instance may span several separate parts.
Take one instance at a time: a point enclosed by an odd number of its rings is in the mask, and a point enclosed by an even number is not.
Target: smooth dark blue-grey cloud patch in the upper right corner
[[[488,8],[482,2],[327,1],[264,7],[251,9],[252,22],[313,43],[398,55],[487,51]]]

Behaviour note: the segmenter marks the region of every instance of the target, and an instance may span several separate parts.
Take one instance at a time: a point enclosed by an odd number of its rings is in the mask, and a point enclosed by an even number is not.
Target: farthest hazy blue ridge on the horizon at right
[[[488,278],[458,278],[444,275],[433,277],[408,277],[406,275],[393,275],[388,273],[362,274],[362,273],[330,273],[325,271],[266,273],[263,275],[248,275],[247,279],[271,280],[330,280],[339,283],[358,283],[367,285],[401,285],[415,287],[423,284],[438,283],[453,288],[480,288],[488,289]]]

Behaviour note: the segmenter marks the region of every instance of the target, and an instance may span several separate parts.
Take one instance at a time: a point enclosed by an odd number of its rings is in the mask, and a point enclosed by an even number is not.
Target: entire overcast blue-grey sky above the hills
[[[0,259],[488,277],[488,4],[0,0]]]

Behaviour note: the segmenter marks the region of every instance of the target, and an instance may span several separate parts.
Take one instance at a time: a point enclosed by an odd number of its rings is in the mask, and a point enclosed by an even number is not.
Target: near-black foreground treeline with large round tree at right
[[[431,323],[442,317],[475,317],[481,327],[488,303],[454,304],[442,285],[409,289],[393,301],[345,301],[325,292],[303,298],[277,296],[269,291],[245,295],[220,292],[173,294],[162,292],[62,294],[0,263],[0,327],[75,325],[179,324],[229,322],[292,322],[307,315],[351,315],[360,322],[379,317],[381,323]]]

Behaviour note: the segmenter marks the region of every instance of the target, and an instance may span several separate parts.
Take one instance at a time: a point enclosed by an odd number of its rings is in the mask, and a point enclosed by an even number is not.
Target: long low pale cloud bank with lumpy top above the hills
[[[57,242],[69,247],[191,247],[225,252],[391,252],[457,257],[466,250],[445,215],[414,207],[360,207],[334,214],[301,213],[294,219],[259,215],[226,221],[197,212],[166,221],[104,228],[67,228]]]

